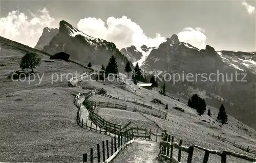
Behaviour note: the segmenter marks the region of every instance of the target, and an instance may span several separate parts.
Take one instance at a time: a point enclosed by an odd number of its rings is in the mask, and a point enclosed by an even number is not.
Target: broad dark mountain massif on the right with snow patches
[[[255,63],[254,52],[215,51],[209,45],[199,50],[173,35],[151,51],[141,68],[155,74],[162,72],[162,78],[164,73],[178,73],[179,82],[165,75],[167,91],[185,99],[200,92],[207,104],[219,108],[223,103],[228,114],[256,128]],[[189,73],[193,77],[186,77]]]

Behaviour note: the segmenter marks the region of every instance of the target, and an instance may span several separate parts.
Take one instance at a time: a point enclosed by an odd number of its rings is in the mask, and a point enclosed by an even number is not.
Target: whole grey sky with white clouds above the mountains
[[[199,49],[256,51],[256,1],[0,0],[0,36],[34,47],[44,27],[66,20],[83,33],[158,46],[177,34]]]

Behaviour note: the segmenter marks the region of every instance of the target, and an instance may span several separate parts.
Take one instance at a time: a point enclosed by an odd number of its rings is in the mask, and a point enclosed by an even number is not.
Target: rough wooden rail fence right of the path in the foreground
[[[166,130],[164,132],[162,132],[162,142],[160,143],[160,146],[162,146],[162,150],[159,153],[159,156],[163,156],[165,159],[168,159],[169,162],[180,162],[181,161],[181,152],[186,152],[188,153],[187,156],[187,163],[191,163],[192,159],[193,159],[193,152],[194,152],[194,148],[203,150],[205,152],[204,154],[204,158],[202,160],[203,163],[207,163],[208,162],[208,158],[209,158],[209,154],[216,154],[219,155],[221,157],[221,163],[226,163],[227,162],[227,155],[229,156],[233,156],[236,158],[241,158],[241,159],[245,159],[251,162],[256,161],[256,158],[251,157],[251,156],[247,156],[244,154],[239,154],[236,152],[230,152],[230,151],[217,151],[217,150],[210,150],[210,149],[206,149],[197,145],[191,145],[189,147],[183,146],[182,145],[182,140],[180,140],[179,143],[174,142],[174,137],[172,137],[172,139],[170,139],[170,135],[168,135],[166,133]],[[178,159],[176,157],[173,156],[173,149],[177,148],[178,151]]]

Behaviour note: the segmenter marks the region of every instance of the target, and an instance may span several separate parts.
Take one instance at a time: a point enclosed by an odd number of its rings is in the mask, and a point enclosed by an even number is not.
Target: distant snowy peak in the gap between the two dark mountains
[[[157,47],[147,47],[146,45],[135,47],[134,45],[131,45],[129,47],[122,48],[120,51],[133,63],[133,65],[138,63],[139,66],[141,66],[148,55],[150,55],[151,50],[155,48]]]

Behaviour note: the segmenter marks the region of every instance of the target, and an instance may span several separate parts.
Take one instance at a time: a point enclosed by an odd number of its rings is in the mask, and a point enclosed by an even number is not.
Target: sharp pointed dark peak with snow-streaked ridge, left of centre
[[[70,59],[81,64],[91,62],[95,65],[108,64],[109,58],[114,55],[119,65],[119,71],[123,72],[127,60],[113,42],[97,39],[82,33],[67,21],[59,22],[59,32],[54,36],[44,51],[54,55],[57,52],[66,52]]]

